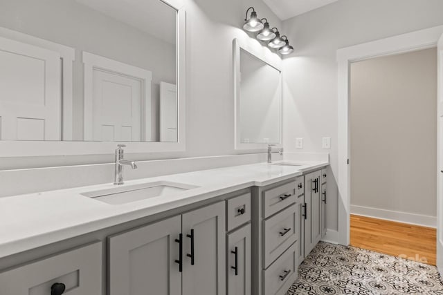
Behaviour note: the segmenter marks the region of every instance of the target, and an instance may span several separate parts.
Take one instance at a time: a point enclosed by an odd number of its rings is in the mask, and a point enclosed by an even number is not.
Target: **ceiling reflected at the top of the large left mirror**
[[[158,39],[175,44],[177,11],[161,0],[75,1]]]

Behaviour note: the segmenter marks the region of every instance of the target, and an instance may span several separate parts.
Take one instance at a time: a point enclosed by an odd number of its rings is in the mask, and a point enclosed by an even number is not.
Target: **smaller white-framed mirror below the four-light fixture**
[[[237,149],[282,142],[280,62],[269,50],[234,40]]]

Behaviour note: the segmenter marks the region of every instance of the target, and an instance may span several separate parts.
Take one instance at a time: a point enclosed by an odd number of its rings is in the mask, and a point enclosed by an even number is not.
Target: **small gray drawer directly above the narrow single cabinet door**
[[[251,193],[226,200],[226,229],[228,231],[251,220]]]

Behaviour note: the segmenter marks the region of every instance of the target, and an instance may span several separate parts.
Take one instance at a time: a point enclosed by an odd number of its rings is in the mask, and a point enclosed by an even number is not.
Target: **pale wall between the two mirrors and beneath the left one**
[[[254,6],[258,16],[266,17],[271,26],[280,28],[281,21],[261,0],[185,2],[188,39],[186,152],[145,153],[127,155],[127,158],[151,160],[239,153],[234,150],[233,39],[254,41],[241,29],[249,6]],[[113,153],[18,160],[0,158],[0,169],[107,163],[114,161]]]

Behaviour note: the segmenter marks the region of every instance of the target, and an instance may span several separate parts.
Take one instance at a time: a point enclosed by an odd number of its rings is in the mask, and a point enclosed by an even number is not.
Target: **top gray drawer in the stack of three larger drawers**
[[[296,182],[291,181],[263,192],[263,218],[296,202]]]

